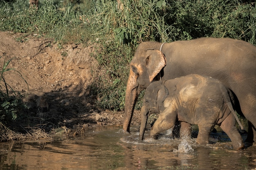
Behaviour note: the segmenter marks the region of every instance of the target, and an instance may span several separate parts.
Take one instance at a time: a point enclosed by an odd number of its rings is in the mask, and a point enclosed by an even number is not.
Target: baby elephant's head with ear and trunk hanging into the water
[[[168,89],[162,84],[153,83],[146,88],[143,106],[141,108],[141,124],[139,130],[141,140],[143,140],[144,137],[148,116],[152,113],[160,112],[160,106],[168,94]]]

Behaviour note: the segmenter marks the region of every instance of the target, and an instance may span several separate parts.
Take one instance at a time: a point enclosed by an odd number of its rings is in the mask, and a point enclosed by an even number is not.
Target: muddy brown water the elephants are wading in
[[[0,170],[252,170],[256,146],[235,151],[225,134],[215,144],[198,146],[195,139],[140,141],[137,129],[90,129],[83,136],[59,141],[0,144]],[[145,137],[148,137],[146,132]],[[256,170],[256,169],[255,169]]]

